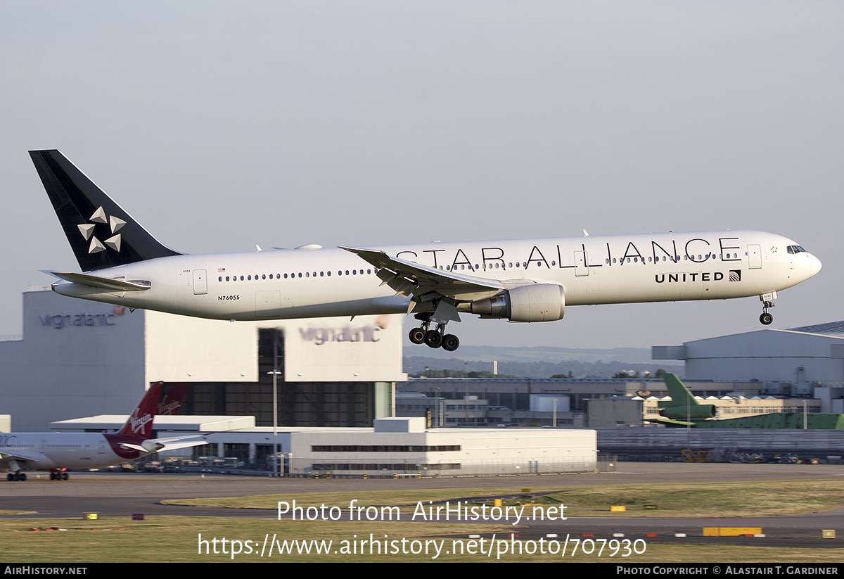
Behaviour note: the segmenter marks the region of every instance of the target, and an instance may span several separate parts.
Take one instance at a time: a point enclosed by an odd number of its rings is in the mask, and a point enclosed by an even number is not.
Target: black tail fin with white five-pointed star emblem
[[[82,271],[181,255],[159,243],[57,150],[30,151]]]

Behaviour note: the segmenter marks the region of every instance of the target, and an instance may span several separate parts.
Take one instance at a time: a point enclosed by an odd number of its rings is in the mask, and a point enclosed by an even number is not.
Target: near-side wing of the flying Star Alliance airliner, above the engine
[[[378,268],[381,285],[387,284],[396,295],[417,297],[429,292],[452,300],[477,300],[495,295],[505,288],[497,279],[484,279],[441,269],[429,268],[401,257],[388,256],[376,249],[340,247]]]

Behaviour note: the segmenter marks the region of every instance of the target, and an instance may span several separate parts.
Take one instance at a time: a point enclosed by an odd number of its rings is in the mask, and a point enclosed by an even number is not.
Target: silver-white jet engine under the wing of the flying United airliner
[[[565,292],[558,284],[520,285],[491,298],[473,301],[472,313],[511,322],[553,322],[563,319]]]

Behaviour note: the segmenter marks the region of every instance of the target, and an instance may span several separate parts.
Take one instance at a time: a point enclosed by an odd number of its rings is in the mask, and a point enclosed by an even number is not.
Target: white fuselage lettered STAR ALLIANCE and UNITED
[[[820,270],[795,241],[760,231],[588,235],[375,249],[506,288],[559,284],[565,305],[720,300],[789,288]],[[60,282],[58,293],[224,320],[357,316],[408,311],[370,263],[339,248],[160,257],[93,272],[149,284],[104,291]],[[459,309],[459,306],[458,306]],[[414,310],[415,311],[415,310]],[[465,311],[465,310],[464,310]]]

